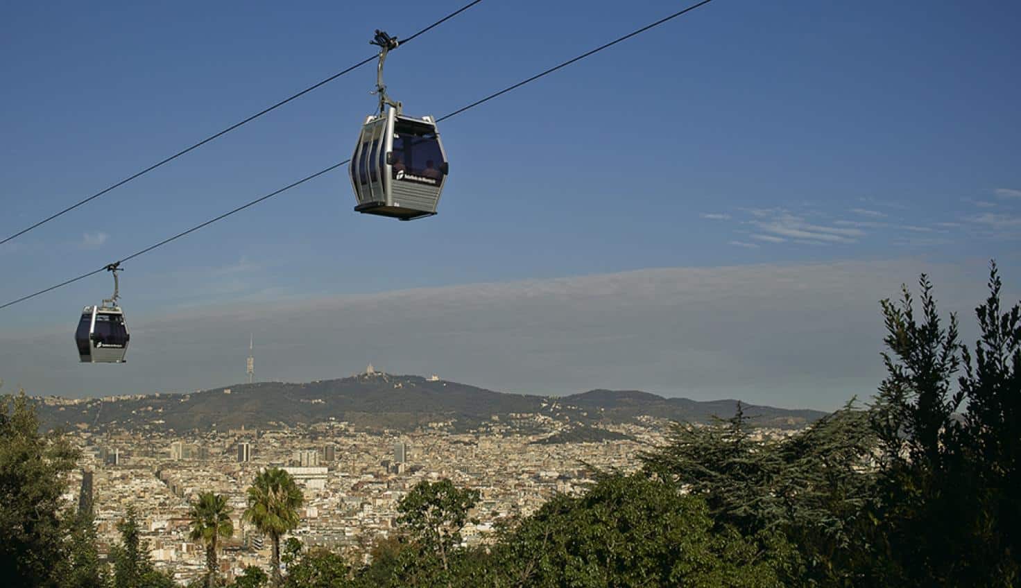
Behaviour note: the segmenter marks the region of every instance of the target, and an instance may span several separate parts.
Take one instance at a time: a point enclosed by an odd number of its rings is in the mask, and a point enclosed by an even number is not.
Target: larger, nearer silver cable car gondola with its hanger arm
[[[386,93],[383,62],[397,39],[382,31],[371,41],[380,49],[376,70],[379,111],[361,126],[349,167],[357,197],[354,209],[366,214],[410,220],[436,214],[449,165],[432,116],[415,118]]]

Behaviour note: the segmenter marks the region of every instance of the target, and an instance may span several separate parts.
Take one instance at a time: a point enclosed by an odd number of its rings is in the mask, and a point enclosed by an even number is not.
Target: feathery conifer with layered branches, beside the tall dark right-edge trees
[[[786,584],[853,584],[875,484],[868,413],[848,402],[783,441],[753,440],[747,421],[738,404],[713,426],[675,425],[645,469],[704,499],[718,529],[783,533],[797,548]]]

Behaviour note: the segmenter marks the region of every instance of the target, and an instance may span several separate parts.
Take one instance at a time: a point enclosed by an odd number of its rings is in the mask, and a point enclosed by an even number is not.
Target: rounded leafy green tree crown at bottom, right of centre
[[[780,586],[786,547],[769,551],[716,529],[706,503],[644,475],[611,476],[580,497],[558,495],[500,539],[501,586]]]

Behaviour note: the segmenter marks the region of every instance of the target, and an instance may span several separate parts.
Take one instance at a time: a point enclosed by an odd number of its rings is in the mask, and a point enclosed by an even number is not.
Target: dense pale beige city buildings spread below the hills
[[[360,378],[389,377],[370,366]],[[399,390],[409,382],[388,381],[387,386]],[[44,399],[51,406],[82,402]],[[638,416],[582,431],[570,416],[584,414],[578,407],[554,400],[539,407],[537,412],[493,414],[469,430],[449,420],[388,429],[333,418],[313,424],[180,432],[83,425],[69,433],[83,458],[68,498],[91,505],[101,552],[115,542],[116,524],[133,506],[156,567],[190,582],[201,576],[205,559],[202,548],[188,540],[189,503],[200,492],[224,494],[234,509],[235,533],[223,544],[220,566],[230,579],[247,566],[264,567],[269,561],[271,542],[241,513],[248,486],[270,465],[286,470],[304,495],[301,524],[293,536],[308,546],[364,553],[364,547],[393,531],[398,501],[423,480],[449,479],[479,491],[481,500],[473,513],[477,523],[464,533],[467,544],[478,544],[493,537],[494,525],[501,520],[529,514],[554,493],[584,489],[595,469],[633,471],[639,451],[666,441],[665,419]]]

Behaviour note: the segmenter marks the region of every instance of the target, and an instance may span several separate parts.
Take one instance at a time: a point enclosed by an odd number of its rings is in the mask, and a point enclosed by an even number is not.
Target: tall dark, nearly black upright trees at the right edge
[[[1001,311],[995,264],[989,296],[976,309],[981,334],[974,358],[942,329],[923,276],[922,316],[907,288],[883,303],[893,355],[874,407],[881,438],[881,522],[872,581],[900,586],[1014,586],[1017,549],[1021,364],[1019,309]],[[964,357],[965,374],[955,375]],[[963,421],[955,411],[964,405]]]

